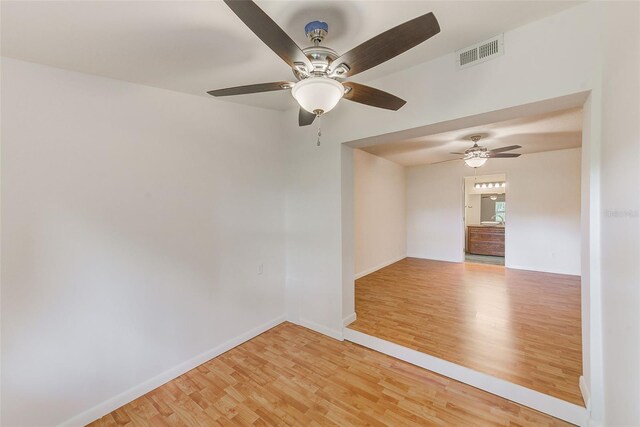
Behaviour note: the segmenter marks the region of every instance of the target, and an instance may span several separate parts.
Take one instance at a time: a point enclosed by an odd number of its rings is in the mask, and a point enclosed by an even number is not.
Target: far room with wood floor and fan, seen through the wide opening
[[[582,115],[354,150],[356,342],[375,337],[585,405]]]

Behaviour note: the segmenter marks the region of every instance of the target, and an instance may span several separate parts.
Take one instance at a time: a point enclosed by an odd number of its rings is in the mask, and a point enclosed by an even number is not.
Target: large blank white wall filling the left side
[[[3,58],[3,425],[282,319],[280,116]]]

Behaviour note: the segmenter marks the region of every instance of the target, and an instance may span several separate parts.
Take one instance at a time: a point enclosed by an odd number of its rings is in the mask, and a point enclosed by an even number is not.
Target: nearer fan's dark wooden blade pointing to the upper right
[[[344,64],[348,71],[340,77],[353,76],[406,52],[439,32],[440,24],[433,12],[429,12],[354,47],[333,61],[330,71]]]

